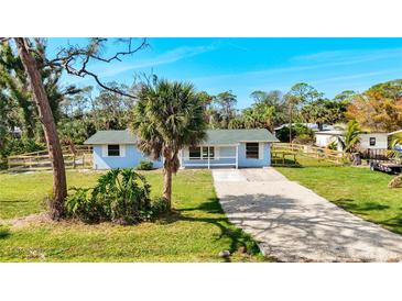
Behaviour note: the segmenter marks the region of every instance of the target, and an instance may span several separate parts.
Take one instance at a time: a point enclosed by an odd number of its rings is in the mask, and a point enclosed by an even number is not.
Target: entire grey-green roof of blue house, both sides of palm
[[[129,130],[123,131],[98,131],[90,136],[84,144],[134,144],[135,135]],[[265,129],[253,130],[208,130],[203,144],[226,145],[239,142],[279,142]]]

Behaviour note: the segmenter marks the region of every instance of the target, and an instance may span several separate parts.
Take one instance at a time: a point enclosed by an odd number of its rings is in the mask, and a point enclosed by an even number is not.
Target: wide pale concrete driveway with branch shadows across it
[[[214,169],[229,220],[281,261],[399,261],[402,235],[336,207],[273,168]]]

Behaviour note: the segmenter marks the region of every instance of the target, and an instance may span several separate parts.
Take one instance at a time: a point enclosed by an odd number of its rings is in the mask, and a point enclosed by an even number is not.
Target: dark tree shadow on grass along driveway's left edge
[[[219,214],[216,218],[204,216],[188,216],[184,215],[184,212],[200,211],[208,214]],[[246,234],[241,228],[232,225],[229,220],[224,215],[224,210],[220,207],[218,198],[210,198],[198,207],[184,208],[174,210],[174,212],[162,216],[161,223],[175,223],[178,221],[194,222],[194,223],[208,223],[217,226],[220,231],[217,239],[229,238],[230,246],[229,252],[233,254],[243,248],[250,255],[260,254],[260,248],[253,238]],[[203,215],[203,214],[200,214]],[[224,258],[226,261],[230,261],[230,257]]]

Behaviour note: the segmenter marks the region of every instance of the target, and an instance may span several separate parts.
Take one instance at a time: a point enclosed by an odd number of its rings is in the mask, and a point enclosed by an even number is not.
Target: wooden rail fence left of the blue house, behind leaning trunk
[[[93,167],[90,146],[78,145],[75,153],[69,147],[63,147],[63,158],[65,167],[69,169]],[[52,169],[52,161],[47,150],[40,150],[8,157],[8,168],[10,171],[47,170]]]

